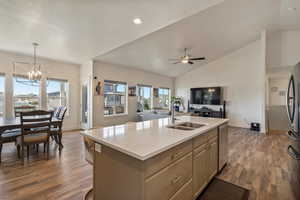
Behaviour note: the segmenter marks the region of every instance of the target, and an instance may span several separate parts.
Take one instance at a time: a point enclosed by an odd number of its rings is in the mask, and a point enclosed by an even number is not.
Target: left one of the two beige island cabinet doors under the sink
[[[207,184],[208,150],[205,147],[194,156],[193,162],[193,194],[197,197]]]

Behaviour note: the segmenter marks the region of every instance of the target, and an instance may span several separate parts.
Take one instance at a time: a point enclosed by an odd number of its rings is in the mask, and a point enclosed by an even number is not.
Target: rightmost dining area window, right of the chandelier
[[[69,83],[66,80],[47,79],[47,108],[55,110],[59,106],[68,108]],[[67,109],[68,112],[69,109]]]

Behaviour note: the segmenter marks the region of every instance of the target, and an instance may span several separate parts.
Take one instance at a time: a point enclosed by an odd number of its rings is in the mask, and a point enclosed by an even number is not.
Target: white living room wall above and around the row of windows
[[[94,62],[94,76],[98,81],[112,80],[126,82],[128,86],[137,84],[151,85],[153,88],[166,87],[171,91],[174,88],[174,80],[170,77],[145,72],[142,70],[128,68],[125,66],[116,66],[98,61]],[[93,103],[93,125],[103,126],[112,124],[122,124],[136,119],[137,97],[128,97],[128,115],[104,117],[103,114],[103,96],[94,96]]]

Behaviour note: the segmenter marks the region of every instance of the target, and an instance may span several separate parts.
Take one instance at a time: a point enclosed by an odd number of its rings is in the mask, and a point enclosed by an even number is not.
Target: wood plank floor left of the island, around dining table
[[[81,139],[79,132],[64,134],[61,156],[52,144],[47,161],[41,146],[41,153],[36,155],[33,151],[25,166],[18,161],[15,146],[5,145],[0,166],[0,199],[82,200],[92,185],[92,167],[84,159]]]

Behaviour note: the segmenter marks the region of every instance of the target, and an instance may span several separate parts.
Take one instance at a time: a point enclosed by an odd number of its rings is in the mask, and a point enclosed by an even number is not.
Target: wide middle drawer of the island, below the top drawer
[[[192,178],[192,153],[145,181],[145,200],[169,200]]]

